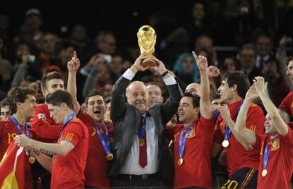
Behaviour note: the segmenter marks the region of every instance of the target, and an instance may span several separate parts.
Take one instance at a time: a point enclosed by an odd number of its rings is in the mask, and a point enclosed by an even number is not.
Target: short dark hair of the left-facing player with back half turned
[[[67,104],[69,109],[73,110],[73,100],[71,94],[66,90],[57,90],[52,94],[48,94],[47,104],[52,104],[54,106],[60,106],[62,103]]]

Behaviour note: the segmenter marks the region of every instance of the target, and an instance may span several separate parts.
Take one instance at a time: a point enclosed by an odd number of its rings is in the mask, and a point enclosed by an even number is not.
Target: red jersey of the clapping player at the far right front
[[[258,188],[290,188],[290,179],[293,173],[293,130],[288,129],[286,136],[278,135],[268,145],[270,155],[266,176],[262,176],[263,155],[270,136],[256,135],[254,148],[258,152],[260,151]]]

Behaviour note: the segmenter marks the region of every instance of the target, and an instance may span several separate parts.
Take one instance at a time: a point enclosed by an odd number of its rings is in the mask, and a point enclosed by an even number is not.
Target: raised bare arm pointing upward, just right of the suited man
[[[200,70],[200,88],[202,96],[200,97],[200,114],[206,118],[212,118],[212,107],[209,102],[209,78],[207,75],[207,58],[205,56],[197,56],[193,51],[193,57],[197,63],[197,68]]]

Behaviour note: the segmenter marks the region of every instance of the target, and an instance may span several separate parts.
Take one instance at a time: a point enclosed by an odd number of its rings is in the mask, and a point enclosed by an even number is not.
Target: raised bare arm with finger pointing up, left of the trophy
[[[74,51],[74,56],[72,57],[71,61],[67,63],[67,68],[68,68],[67,91],[71,94],[71,97],[73,99],[74,114],[79,113],[79,109],[81,109],[81,106],[79,105],[79,102],[77,101],[77,97],[76,97],[76,71],[79,70],[79,66],[80,66],[80,61],[77,58],[76,51]]]

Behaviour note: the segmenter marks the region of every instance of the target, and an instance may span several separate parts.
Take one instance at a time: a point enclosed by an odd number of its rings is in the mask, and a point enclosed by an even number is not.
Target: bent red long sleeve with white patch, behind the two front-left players
[[[38,106],[35,109],[35,115],[30,118],[32,130],[38,138],[58,139],[62,130],[61,125],[50,125],[47,119],[50,115],[46,112],[45,106]]]

